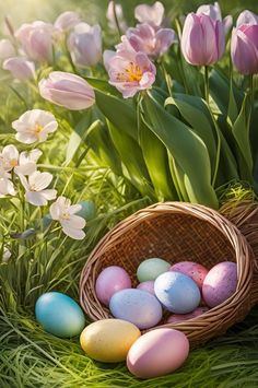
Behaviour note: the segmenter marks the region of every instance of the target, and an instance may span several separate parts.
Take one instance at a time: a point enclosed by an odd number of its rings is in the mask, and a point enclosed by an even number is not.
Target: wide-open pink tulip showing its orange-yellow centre
[[[109,83],[122,93],[124,98],[128,98],[152,86],[156,69],[144,52],[132,48],[126,36],[121,40],[116,54],[106,58],[106,68]]]

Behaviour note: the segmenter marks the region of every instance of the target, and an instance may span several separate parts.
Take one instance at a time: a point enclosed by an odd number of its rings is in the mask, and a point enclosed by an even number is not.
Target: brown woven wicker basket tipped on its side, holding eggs
[[[137,268],[148,257],[161,257],[171,263],[191,260],[208,268],[225,260],[237,262],[237,290],[226,302],[195,319],[157,326],[184,331],[192,348],[204,343],[243,320],[258,302],[257,204],[231,202],[219,213],[203,205],[165,202],[120,222],[102,238],[81,274],[80,299],[90,318],[110,317],[95,294],[99,272],[108,266],[121,266],[136,286]]]

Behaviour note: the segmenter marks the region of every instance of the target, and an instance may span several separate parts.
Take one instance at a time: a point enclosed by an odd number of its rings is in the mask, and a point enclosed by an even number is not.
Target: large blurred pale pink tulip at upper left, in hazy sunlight
[[[50,62],[52,59],[52,33],[51,24],[34,22],[23,24],[15,33],[23,50],[28,58],[39,62]]]

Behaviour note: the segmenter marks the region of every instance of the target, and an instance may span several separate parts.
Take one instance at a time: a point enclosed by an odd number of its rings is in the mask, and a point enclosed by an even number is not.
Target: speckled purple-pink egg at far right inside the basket
[[[236,263],[223,261],[208,272],[202,285],[202,297],[209,307],[215,307],[228,299],[235,293],[236,286]]]

